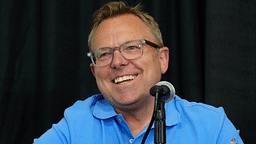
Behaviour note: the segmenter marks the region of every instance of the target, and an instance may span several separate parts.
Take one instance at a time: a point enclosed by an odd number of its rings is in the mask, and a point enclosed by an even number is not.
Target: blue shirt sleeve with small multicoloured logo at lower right
[[[244,144],[239,130],[235,128],[232,122],[224,115],[217,144]]]

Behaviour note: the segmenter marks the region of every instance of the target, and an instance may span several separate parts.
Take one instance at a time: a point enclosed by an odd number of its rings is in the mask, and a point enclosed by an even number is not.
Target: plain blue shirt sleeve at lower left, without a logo
[[[58,124],[46,131],[40,138],[34,139],[33,144],[69,144],[70,136],[66,120],[63,118]]]

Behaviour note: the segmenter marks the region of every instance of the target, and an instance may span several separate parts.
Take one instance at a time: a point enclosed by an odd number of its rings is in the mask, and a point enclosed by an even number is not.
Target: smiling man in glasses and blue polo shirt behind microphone
[[[149,90],[169,62],[157,23],[139,6],[111,2],[95,12],[88,44],[101,94],[66,109],[35,144],[141,143],[154,110]],[[167,143],[243,143],[222,108],[178,96],[165,107]],[[154,125],[146,143],[154,143]]]

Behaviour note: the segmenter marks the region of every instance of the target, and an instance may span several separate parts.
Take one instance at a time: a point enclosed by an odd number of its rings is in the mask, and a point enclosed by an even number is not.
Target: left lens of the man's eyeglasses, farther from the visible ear
[[[105,66],[111,63],[112,52],[111,48],[100,48],[95,50],[93,56],[94,64],[97,66]]]

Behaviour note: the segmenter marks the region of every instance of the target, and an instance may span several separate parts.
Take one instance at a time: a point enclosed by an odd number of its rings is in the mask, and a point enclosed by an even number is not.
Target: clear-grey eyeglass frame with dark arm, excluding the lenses
[[[140,43],[142,44],[142,53],[141,53],[141,56],[143,55],[143,50],[144,50],[143,44],[147,44],[147,45],[152,46],[152,47],[154,47],[154,48],[156,48],[156,49],[161,48],[161,47],[158,46],[157,44],[155,44],[155,43],[153,43],[153,42],[151,42],[151,41],[145,40],[145,39],[143,39],[143,40],[131,40],[131,41],[140,41]],[[121,55],[123,56],[122,52],[120,51],[120,48],[121,48],[124,44],[126,44],[126,43],[128,43],[128,42],[131,42],[131,41],[127,41],[127,42],[121,44],[119,47],[114,47],[114,48],[106,47],[106,48],[111,48],[111,49],[113,50],[113,51],[112,51],[112,55],[113,55],[113,56],[112,56],[112,60],[111,60],[111,62],[110,62],[109,64],[111,64],[112,61],[113,61],[113,58],[114,58],[114,51],[115,51],[115,50],[118,50],[118,51],[121,53]],[[101,48],[99,48],[99,49],[101,49]],[[93,55],[94,55],[94,54],[93,54],[93,53],[94,53],[95,51],[99,50],[99,49],[96,49],[96,50],[93,50],[93,51],[88,52],[88,53],[87,53],[87,56],[91,59],[92,63],[93,63],[94,66],[96,66],[96,67],[104,67],[104,66],[109,65],[109,64],[106,64],[106,65],[103,65],[103,66],[98,66],[98,65],[96,65],[96,63],[94,62],[94,60],[93,60]],[[139,56],[139,57],[137,57],[137,58],[140,58],[141,56]],[[125,57],[123,56],[123,58],[125,58]],[[125,58],[125,59],[127,59],[127,58]],[[136,58],[134,58],[134,59],[136,59]],[[131,60],[131,59],[127,59],[127,60]]]

